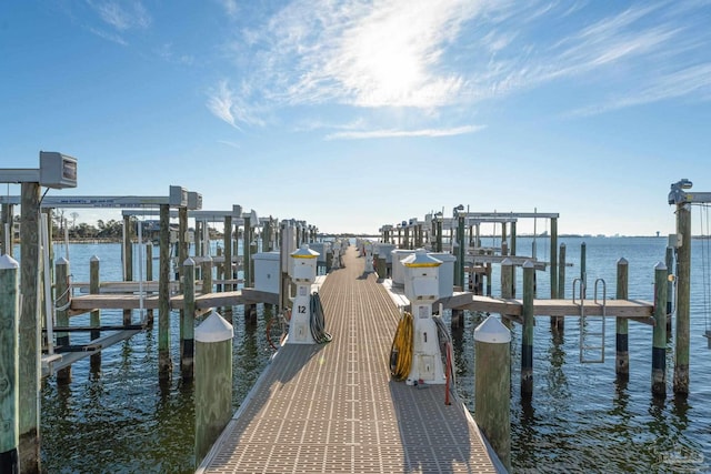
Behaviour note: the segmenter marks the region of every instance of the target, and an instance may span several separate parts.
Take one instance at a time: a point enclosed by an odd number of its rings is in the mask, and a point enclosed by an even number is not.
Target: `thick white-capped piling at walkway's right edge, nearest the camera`
[[[474,418],[511,471],[511,331],[493,316],[474,330]]]

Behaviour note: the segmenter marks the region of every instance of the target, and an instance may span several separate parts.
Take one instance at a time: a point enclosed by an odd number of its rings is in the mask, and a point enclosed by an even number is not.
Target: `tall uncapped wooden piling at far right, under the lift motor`
[[[677,204],[677,331],[674,334],[674,393],[689,393],[689,335],[691,313],[691,204]]]

